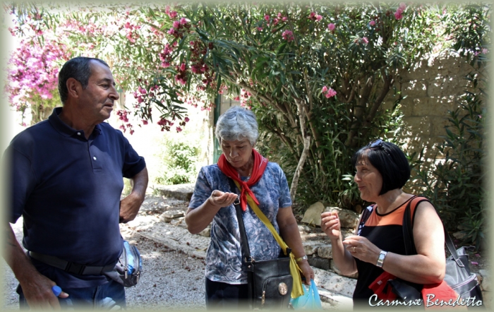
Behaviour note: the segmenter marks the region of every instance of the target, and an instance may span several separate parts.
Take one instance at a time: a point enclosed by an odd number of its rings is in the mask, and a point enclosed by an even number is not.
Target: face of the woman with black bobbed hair
[[[375,202],[382,188],[382,176],[368,160],[357,163],[354,181],[359,186],[360,198]]]

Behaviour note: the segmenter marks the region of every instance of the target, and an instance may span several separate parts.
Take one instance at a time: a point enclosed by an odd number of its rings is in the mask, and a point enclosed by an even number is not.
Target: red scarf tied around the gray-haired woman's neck
[[[243,211],[246,211],[247,209],[246,193],[248,193],[248,195],[251,196],[251,198],[255,201],[255,203],[259,205],[258,199],[255,198],[255,195],[254,193],[252,193],[251,188],[249,188],[249,186],[253,186],[254,184],[258,183],[261,176],[263,176],[264,170],[266,169],[267,166],[267,159],[262,155],[260,155],[257,150],[252,149],[252,155],[254,157],[254,165],[252,168],[251,179],[248,179],[248,181],[246,182],[240,179],[239,172],[237,172],[236,169],[227,161],[227,157],[225,157],[222,154],[221,156],[219,156],[219,160],[218,160],[219,170],[221,170],[229,178],[239,182],[241,186],[240,206]]]

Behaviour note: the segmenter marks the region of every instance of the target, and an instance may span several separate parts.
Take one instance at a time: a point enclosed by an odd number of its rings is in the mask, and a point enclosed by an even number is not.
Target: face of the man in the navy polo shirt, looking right
[[[109,119],[114,101],[119,100],[120,96],[110,69],[98,61],[91,61],[90,64],[88,87],[83,90],[79,102],[85,114],[80,117],[91,124],[100,124]]]

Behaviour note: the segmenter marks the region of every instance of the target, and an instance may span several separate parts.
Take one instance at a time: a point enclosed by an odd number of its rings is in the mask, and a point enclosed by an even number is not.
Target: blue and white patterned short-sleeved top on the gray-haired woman
[[[242,180],[246,181],[247,178]],[[290,191],[284,172],[277,163],[268,162],[263,177],[250,188],[260,203],[260,210],[279,233],[276,221],[278,208],[291,206]],[[200,169],[189,208],[198,208],[214,190],[230,191],[228,178],[219,170],[217,164]],[[255,212],[247,205],[247,210],[242,212],[242,215],[251,256],[255,260],[278,258],[279,245]],[[247,274],[241,270],[239,223],[234,205],[221,208],[212,220],[211,241],[206,256],[206,277],[212,281],[229,284],[247,283]]]

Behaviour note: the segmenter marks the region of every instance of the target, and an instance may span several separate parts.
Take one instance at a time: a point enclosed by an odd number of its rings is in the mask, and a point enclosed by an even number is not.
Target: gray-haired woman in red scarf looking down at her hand
[[[268,162],[254,150],[258,139],[255,115],[242,107],[231,107],[219,117],[216,131],[222,155],[217,164],[200,169],[186,224],[192,234],[211,222],[211,241],[206,256],[207,308],[246,308],[247,274],[242,270],[239,223],[229,178],[241,186],[248,245],[255,260],[278,258],[280,247],[270,230],[246,203],[247,194],[258,204],[294,253],[297,264],[310,284],[314,272],[303,251],[299,227],[291,210],[287,178],[275,162]]]

